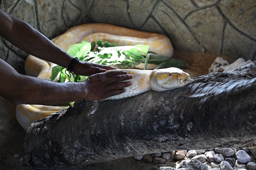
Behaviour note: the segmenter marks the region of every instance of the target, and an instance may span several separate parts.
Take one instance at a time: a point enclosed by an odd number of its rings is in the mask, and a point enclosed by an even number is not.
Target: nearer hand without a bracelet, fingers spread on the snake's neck
[[[124,93],[124,88],[132,84],[129,81],[132,78],[131,74],[121,70],[94,74],[83,82],[86,100],[101,100]]]

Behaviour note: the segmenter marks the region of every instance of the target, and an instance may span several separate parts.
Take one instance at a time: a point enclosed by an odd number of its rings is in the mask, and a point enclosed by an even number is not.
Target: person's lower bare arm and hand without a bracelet
[[[0,96],[15,104],[59,105],[77,100],[100,100],[121,94],[131,82],[126,71],[108,71],[81,83],[56,83],[17,73],[0,59]],[[100,82],[100,83],[99,83]]]

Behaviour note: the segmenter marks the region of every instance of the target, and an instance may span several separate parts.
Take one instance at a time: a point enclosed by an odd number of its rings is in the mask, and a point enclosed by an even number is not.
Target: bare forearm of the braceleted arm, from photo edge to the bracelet
[[[26,22],[8,14],[4,16],[8,18],[9,23],[12,23],[11,25],[1,25],[6,27],[6,29],[2,28],[4,29],[2,36],[10,43],[33,56],[56,63],[65,68],[68,67],[72,56],[57,47]]]

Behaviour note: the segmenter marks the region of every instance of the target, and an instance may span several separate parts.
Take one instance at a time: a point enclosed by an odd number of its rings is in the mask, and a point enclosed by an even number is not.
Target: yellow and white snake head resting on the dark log
[[[185,86],[190,75],[175,67],[153,70],[150,75],[150,88],[154,91],[165,91]]]

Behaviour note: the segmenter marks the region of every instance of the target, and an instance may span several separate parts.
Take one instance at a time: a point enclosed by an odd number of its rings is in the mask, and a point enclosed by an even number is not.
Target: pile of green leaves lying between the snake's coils
[[[118,68],[132,68],[140,63],[145,63],[144,70],[148,63],[156,64],[155,69],[160,67],[186,67],[186,63],[181,60],[148,53],[148,45],[117,46],[107,41],[102,42],[102,40],[98,40],[97,45],[98,47],[96,48],[95,42],[82,41],[82,43],[69,46],[66,52],[81,61],[111,65]],[[67,76],[65,71],[66,68],[64,67],[53,67],[51,80],[54,80],[58,74],[60,74],[59,82],[82,82],[88,78],[87,76],[79,75]]]

